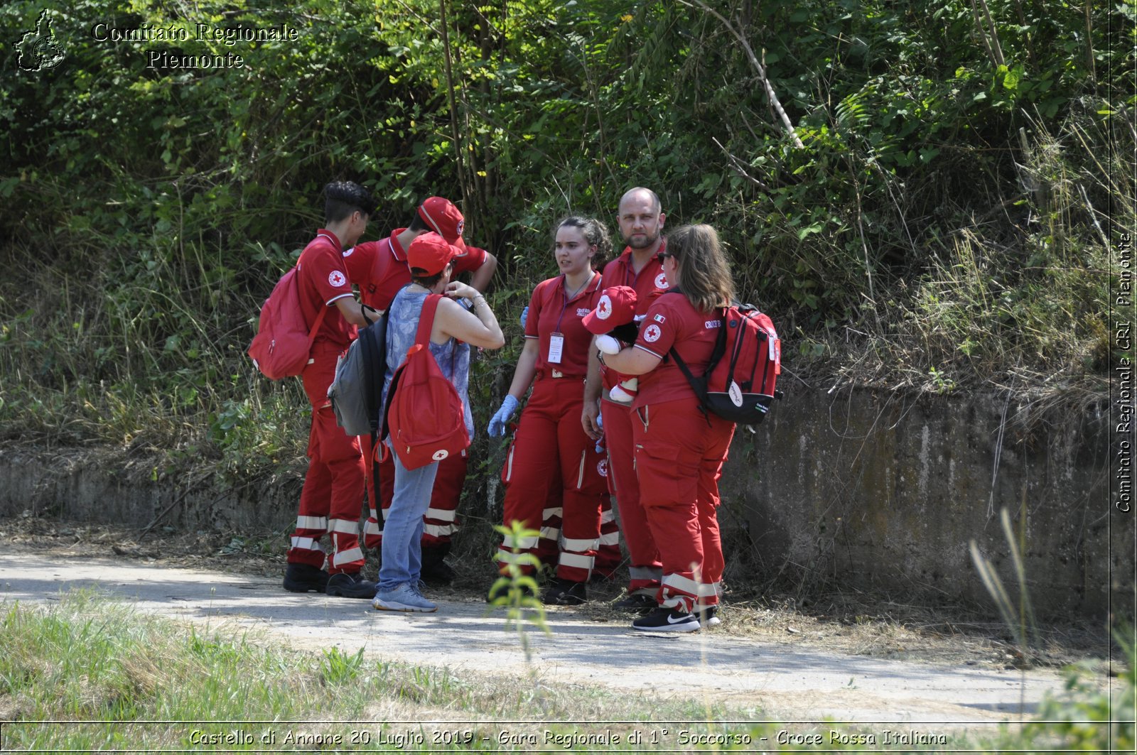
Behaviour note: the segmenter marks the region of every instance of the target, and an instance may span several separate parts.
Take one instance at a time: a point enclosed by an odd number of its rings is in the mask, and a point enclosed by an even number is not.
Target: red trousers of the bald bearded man
[[[608,447],[608,488],[616,497],[620,529],[624,533],[631,558],[628,591],[655,592],[663,578],[663,564],[640,504],[632,441],[632,410],[623,404],[604,399],[600,401],[600,413],[604,418],[604,440]]]

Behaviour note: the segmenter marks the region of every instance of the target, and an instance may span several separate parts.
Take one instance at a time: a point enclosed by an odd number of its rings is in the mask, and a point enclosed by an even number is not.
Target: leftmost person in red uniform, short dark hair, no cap
[[[371,598],[375,583],[363,579],[359,549],[359,500],[364,487],[364,459],[359,441],[335,424],[327,388],[335,376],[335,360],[363,325],[363,309],[351,291],[343,265],[343,244],[354,244],[367,229],[375,201],[363,186],[335,181],[324,188],[324,217],[319,229],[297,260],[300,308],[314,322],[324,316],[312,345],[308,366],[300,378],[312,404],[308,433],[308,473],[300,491],[296,532],[288,550],[284,589],[292,592],[327,592]],[[331,538],[325,555],[321,538]],[[325,561],[327,564],[324,569]]]

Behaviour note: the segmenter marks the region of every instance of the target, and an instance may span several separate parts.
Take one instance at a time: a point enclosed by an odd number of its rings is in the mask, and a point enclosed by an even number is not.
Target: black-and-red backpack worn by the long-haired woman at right
[[[775,385],[781,374],[781,341],[770,317],[748,304],[724,307],[707,371],[696,378],[680,358],[675,360],[699,404],[723,420],[738,424],[762,422],[770,405],[781,398]]]

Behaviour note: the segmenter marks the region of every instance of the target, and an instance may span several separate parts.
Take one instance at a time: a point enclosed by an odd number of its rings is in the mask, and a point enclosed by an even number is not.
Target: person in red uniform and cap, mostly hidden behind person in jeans
[[[489,287],[497,259],[484,249],[467,246],[462,239],[465,219],[458,208],[442,197],[429,197],[415,211],[410,225],[396,229],[380,241],[367,241],[356,244],[343,252],[351,282],[359,287],[359,297],[368,307],[387,310],[399,289],[410,283],[410,268],[407,265],[407,249],[410,242],[431,231],[438,233],[459,250],[454,260],[454,277],[462,273],[471,273],[470,284],[484,292]],[[371,438],[359,439],[364,456],[372,458]],[[379,490],[375,486],[375,466],[379,471]],[[383,542],[383,531],[379,525],[379,511],[384,513],[391,507],[393,490],[395,464],[391,457],[377,465],[368,461],[366,465],[367,499],[371,514],[364,525],[364,545],[379,553]],[[422,537],[422,579],[426,582],[450,582],[454,570],[446,562],[450,551],[451,537],[458,529],[457,509],[462,498],[462,486],[466,480],[466,454],[455,454],[442,461],[438,475],[434,478],[434,489],[430,507],[423,518]],[[376,495],[377,492],[377,495]],[[381,501],[376,507],[375,501]]]

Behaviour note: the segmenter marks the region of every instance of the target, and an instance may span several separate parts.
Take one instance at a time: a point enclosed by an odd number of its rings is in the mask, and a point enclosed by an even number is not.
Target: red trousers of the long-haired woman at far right
[[[719,603],[722,541],[719,537],[719,478],[735,424],[704,416],[698,399],[634,409],[632,435],[640,500],[663,559],[656,599],[691,611]],[[605,420],[605,423],[607,420]]]

